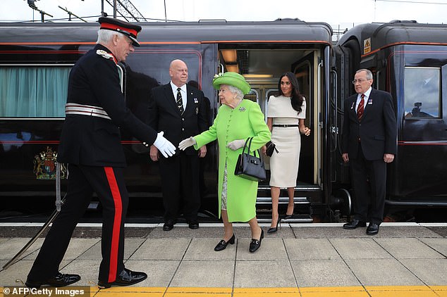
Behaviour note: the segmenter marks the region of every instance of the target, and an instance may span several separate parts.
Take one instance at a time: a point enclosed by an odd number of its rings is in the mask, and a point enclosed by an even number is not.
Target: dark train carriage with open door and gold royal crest
[[[123,94],[131,110],[147,120],[149,91],[169,82],[169,63],[187,63],[189,80],[210,102],[209,120],[219,102],[214,74],[236,71],[250,82],[245,98],[266,113],[277,92],[278,77],[294,72],[307,99],[295,201],[302,217],[325,214],[331,194],[329,141],[329,77],[332,30],[326,23],[300,20],[272,22],[140,23],[141,46],[120,65]],[[64,119],[68,73],[96,40],[95,23],[3,23],[0,25],[0,196],[3,210],[49,206],[54,201],[54,164]],[[126,183],[132,199],[148,216],[161,198],[158,165],[139,141],[122,131],[128,160]],[[268,160],[267,169],[268,169]],[[217,150],[208,148],[202,162],[202,212],[217,210]],[[66,169],[62,170],[66,177]],[[18,197],[18,199],[11,199]],[[269,183],[259,183],[259,210],[268,208]],[[286,197],[281,202],[286,203]],[[161,203],[158,204],[161,207]],[[299,208],[298,208],[299,209]],[[147,210],[147,212],[143,211]],[[262,211],[261,211],[262,213]],[[161,212],[160,212],[161,214]],[[156,214],[157,215],[157,214]],[[149,215],[150,216],[150,215]],[[262,217],[262,215],[261,215]]]

